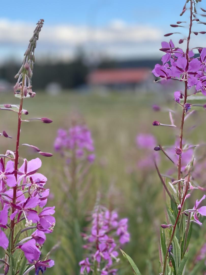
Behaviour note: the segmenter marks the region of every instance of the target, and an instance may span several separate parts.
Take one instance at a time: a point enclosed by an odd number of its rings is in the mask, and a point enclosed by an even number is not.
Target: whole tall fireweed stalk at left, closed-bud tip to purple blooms
[[[52,122],[47,118],[22,119],[23,115],[28,115],[28,111],[23,109],[24,98],[35,96],[31,78],[34,51],[43,22],[43,19],[38,21],[24,54],[23,64],[15,76],[18,80],[14,92],[20,98],[20,105],[4,104],[1,107],[1,110],[10,110],[18,115],[16,149],[14,152],[7,150],[0,160],[0,246],[5,250],[4,260],[1,261],[4,263],[4,274],[10,275],[26,275],[33,269],[38,274],[54,265],[54,261],[48,259],[49,253],[40,259],[41,247],[46,240],[45,233],[51,233],[55,225],[52,216],[54,207],[44,207],[49,195],[49,189],[44,188],[47,178],[37,173],[41,167],[39,158],[30,161],[23,159],[22,163],[19,156],[21,123],[34,119],[43,123]],[[9,137],[5,131],[3,135]],[[52,156],[34,145],[22,145],[31,147],[42,156]]]

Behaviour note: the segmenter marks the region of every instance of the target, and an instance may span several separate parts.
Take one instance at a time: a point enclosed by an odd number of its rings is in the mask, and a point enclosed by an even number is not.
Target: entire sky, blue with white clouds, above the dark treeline
[[[78,47],[92,56],[94,62],[101,57],[161,56],[158,51],[161,41],[170,39],[163,35],[174,31],[169,25],[188,19],[188,11],[183,18],[179,17],[184,3],[183,0],[2,1],[0,63],[8,58],[22,59],[40,18],[45,20],[37,46],[40,60],[48,57],[71,60]],[[206,9],[206,2],[198,6]],[[205,31],[206,26],[198,28]],[[185,37],[186,28],[181,31],[182,35],[172,37],[175,43]],[[205,46],[206,36],[198,35],[194,41],[196,46]]]

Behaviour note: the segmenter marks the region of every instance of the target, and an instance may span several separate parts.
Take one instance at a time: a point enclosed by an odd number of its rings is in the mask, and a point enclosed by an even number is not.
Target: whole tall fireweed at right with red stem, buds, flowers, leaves
[[[192,35],[205,34],[205,31],[196,31],[194,28],[197,26],[206,25],[198,17],[198,11],[201,10],[200,16],[205,17],[206,10],[198,7],[197,3],[201,0],[187,0],[182,13],[189,12],[189,33],[186,38],[179,40],[179,44],[186,42],[185,50],[182,50],[178,46],[175,46],[172,40],[169,42],[162,42],[162,48],[160,51],[165,54],[162,57],[162,64],[156,64],[153,74],[158,78],[158,82],[166,82],[168,80],[176,80],[180,83],[184,83],[183,90],[174,92],[174,100],[178,104],[181,110],[181,117],[177,121],[173,120],[175,111],[169,110],[169,119],[171,124],[164,124],[155,120],[153,126],[165,126],[173,127],[179,131],[179,139],[173,146],[156,146],[154,148],[155,153],[163,152],[164,157],[168,158],[172,163],[172,168],[166,174],[162,174],[158,168],[156,158],[155,167],[158,172],[158,176],[163,184],[163,189],[168,197],[165,197],[166,203],[166,223],[161,225],[160,232],[160,274],[161,275],[182,275],[188,274],[190,267],[187,262],[188,255],[190,258],[196,255],[192,255],[190,251],[191,247],[191,234],[192,225],[202,225],[204,219],[202,216],[206,216],[206,206],[204,205],[205,195],[200,200],[196,200],[193,208],[188,207],[188,200],[190,201],[191,193],[196,189],[205,192],[205,187],[202,184],[198,185],[195,177],[200,157],[197,155],[197,148],[202,146],[201,144],[187,144],[185,138],[187,138],[184,131],[185,120],[191,117],[194,110],[193,107],[203,107],[205,105],[192,104],[190,100],[191,95],[196,95],[202,92],[206,95],[206,48],[196,47],[190,49],[190,39]],[[198,10],[199,9],[199,10]],[[203,14],[202,14],[203,12]],[[185,21],[178,21],[176,24],[171,24],[173,28],[183,29]],[[196,26],[195,26],[196,25]],[[171,32],[165,34],[165,37],[173,34],[181,34],[180,32]],[[194,56],[193,50],[196,50],[199,55]],[[196,96],[197,97],[197,96]],[[188,101],[190,103],[188,103]],[[177,115],[176,115],[177,117]],[[180,123],[178,123],[178,121]],[[180,126],[178,126],[180,124]],[[168,199],[170,204],[168,205]],[[196,226],[196,225],[194,225]],[[124,255],[124,254],[123,254]],[[128,255],[126,255],[127,257]],[[127,259],[129,259],[127,257]],[[131,259],[131,258],[130,258]],[[131,260],[129,259],[130,263]],[[137,266],[132,263],[136,274],[140,274]],[[199,269],[198,269],[199,268]],[[201,270],[201,266],[195,266],[194,274],[197,274]]]

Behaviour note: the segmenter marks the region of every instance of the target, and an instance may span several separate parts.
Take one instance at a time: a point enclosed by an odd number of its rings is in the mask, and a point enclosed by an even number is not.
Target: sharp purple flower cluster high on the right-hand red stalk
[[[162,42],[161,51],[166,54],[162,57],[162,65],[156,64],[152,71],[156,77],[163,79],[177,79],[187,82],[187,88],[195,86],[197,92],[206,95],[206,48],[197,48],[200,56],[194,58],[193,51],[188,53],[175,47],[172,40]],[[174,93],[175,100],[180,103],[181,92]]]

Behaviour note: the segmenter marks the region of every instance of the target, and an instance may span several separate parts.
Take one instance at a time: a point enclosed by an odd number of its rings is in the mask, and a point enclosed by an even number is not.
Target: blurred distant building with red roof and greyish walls
[[[97,69],[88,74],[87,83],[93,88],[147,90],[151,79],[149,68]]]

